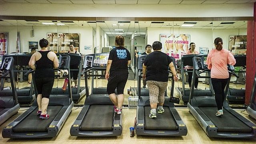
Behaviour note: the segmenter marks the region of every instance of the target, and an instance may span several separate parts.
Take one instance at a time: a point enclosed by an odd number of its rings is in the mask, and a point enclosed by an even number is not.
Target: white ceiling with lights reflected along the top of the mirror
[[[152,23],[151,21],[139,21],[139,22],[116,22],[116,21],[102,21],[102,22],[90,22],[90,21],[57,21],[52,22],[51,20],[38,20],[37,22],[31,22],[26,20],[2,20],[0,21],[0,26],[50,26],[42,24],[42,22],[54,23],[56,26],[57,23],[62,23],[66,27],[92,27],[96,30],[96,26],[100,26],[102,30],[108,34],[108,36],[115,36],[117,32],[123,33],[124,36],[131,35],[133,32],[136,32],[136,36],[144,36],[146,34],[146,29],[148,27],[157,27],[157,28],[198,28],[198,29],[246,29],[247,21],[193,21],[194,26],[184,27],[185,21],[165,21],[161,23]],[[186,21],[189,22],[189,21]],[[190,21],[191,22],[191,21]],[[222,22],[234,22],[233,24],[221,24]],[[113,25],[116,24],[116,25]],[[123,31],[115,31],[115,29],[123,29]]]

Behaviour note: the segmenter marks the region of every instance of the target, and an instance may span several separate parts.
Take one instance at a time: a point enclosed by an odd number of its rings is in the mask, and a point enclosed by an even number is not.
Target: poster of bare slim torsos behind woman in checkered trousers
[[[190,44],[190,35],[188,34],[160,34],[160,42],[162,43],[162,52],[180,59],[186,54]]]

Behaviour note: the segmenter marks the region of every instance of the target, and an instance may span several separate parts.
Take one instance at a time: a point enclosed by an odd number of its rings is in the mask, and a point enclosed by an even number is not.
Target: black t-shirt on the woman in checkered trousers
[[[171,62],[170,56],[163,52],[154,51],[148,54],[143,62],[147,66],[146,81],[168,82],[168,67]]]

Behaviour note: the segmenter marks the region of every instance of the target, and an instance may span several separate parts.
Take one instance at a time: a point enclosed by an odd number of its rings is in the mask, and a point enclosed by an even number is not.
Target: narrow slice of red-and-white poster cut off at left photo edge
[[[7,54],[8,36],[8,32],[0,32],[0,65],[2,63],[2,56]]]

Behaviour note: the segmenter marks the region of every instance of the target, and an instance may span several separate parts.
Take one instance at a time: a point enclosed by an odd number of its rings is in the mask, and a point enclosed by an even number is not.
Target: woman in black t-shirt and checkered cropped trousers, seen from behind
[[[164,93],[168,84],[168,67],[172,71],[173,78],[177,82],[178,76],[172,63],[172,59],[167,54],[161,52],[162,43],[155,41],[152,44],[154,52],[148,54],[143,62],[142,77],[146,78],[149,90],[150,118],[156,118],[156,107],[158,113],[164,112]]]

